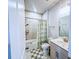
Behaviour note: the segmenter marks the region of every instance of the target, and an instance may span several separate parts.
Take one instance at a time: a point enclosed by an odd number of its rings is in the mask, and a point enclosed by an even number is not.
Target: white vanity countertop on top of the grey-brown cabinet
[[[68,51],[68,42],[64,42],[61,37],[56,39],[49,38],[49,42],[52,42],[58,45],[59,47],[63,48],[64,50]]]

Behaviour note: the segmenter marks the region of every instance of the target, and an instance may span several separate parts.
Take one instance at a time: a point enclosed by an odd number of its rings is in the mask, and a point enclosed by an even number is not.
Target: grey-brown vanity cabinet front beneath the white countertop
[[[68,59],[68,53],[63,48],[50,42],[50,59]]]

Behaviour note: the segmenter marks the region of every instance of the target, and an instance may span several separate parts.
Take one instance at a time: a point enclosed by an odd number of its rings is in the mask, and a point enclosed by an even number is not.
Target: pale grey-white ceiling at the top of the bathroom
[[[37,13],[44,13],[59,0],[25,0],[25,10]]]

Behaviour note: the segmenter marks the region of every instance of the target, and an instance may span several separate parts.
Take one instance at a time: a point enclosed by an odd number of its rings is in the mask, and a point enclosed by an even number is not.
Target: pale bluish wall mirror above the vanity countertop
[[[70,16],[64,16],[59,19],[59,36],[69,37]]]

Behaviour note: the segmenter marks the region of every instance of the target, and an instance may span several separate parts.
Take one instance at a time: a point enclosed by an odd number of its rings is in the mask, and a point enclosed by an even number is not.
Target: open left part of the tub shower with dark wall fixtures
[[[37,32],[38,32],[38,20],[25,19],[25,41],[26,50],[37,48]]]

